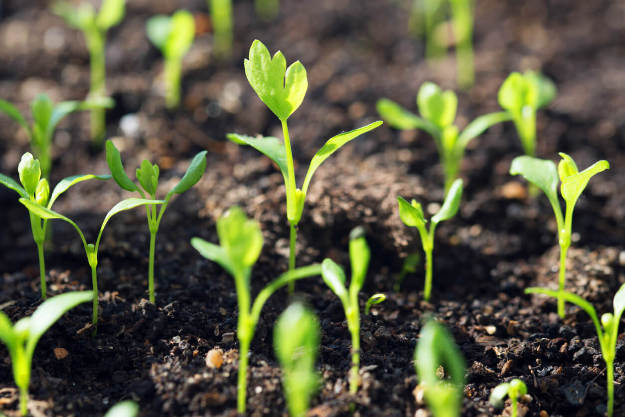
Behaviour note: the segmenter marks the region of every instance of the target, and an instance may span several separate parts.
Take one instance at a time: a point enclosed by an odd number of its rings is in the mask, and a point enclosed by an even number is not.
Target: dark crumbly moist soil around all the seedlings
[[[247,84],[243,59],[253,39],[289,63],[307,69],[306,99],[289,119],[297,176],[324,141],[377,119],[376,99],[386,97],[416,111],[424,81],[455,86],[454,55],[424,61],[422,41],[407,28],[411,1],[284,0],[265,22],[252,2],[234,1],[230,58],[212,54],[210,16],[201,0],[129,0],[123,23],[111,29],[106,49],[108,91],[116,108],[107,114],[108,137],[121,150],[126,171],[147,158],[161,167],[164,195],[192,156],[207,149],[204,178],[169,204],[156,241],[156,304],[146,301],[149,234],[141,209],[118,214],[99,251],[98,336],[91,338],[89,304],[61,318],[41,338],[32,364],[29,411],[34,416],[102,415],[122,399],[139,402],[144,416],[234,416],[239,363],[237,302],[232,278],[202,258],[189,240],[217,242],[215,220],[234,204],[257,219],[264,249],[254,267],[252,292],[287,268],[288,224],[282,176],[254,149],[224,139],[229,132],[281,136],[277,119]],[[0,97],[27,111],[44,91],[54,101],[88,93],[88,53],[82,35],[51,14],[46,1],[1,4]],[[143,31],[146,18],[187,8],[197,38],[184,61],[183,104],[163,106],[159,52]],[[625,281],[622,224],[625,201],[625,9],[620,2],[479,0],[476,9],[476,84],[460,91],[457,124],[497,111],[497,89],[511,71],[541,69],[559,89],[539,112],[537,154],[557,161],[566,152],[586,168],[607,159],[611,169],[592,178],[577,203],[567,288],[599,314],[611,311]],[[0,116],[0,170],[17,178],[26,134]],[[102,149],[89,144],[87,113],[72,114],[54,139],[51,183],[77,173],[108,173]],[[605,364],[591,320],[554,299],[526,296],[528,286],[555,288],[556,223],[544,196],[507,173],[521,146],[511,123],[474,139],[462,166],[465,189],[457,216],[439,225],[434,248],[434,289],[422,301],[422,264],[401,291],[392,284],[410,253],[421,253],[416,230],[401,223],[396,197],[416,198],[428,211],[442,201],[436,147],[427,134],[382,126],[337,151],[315,174],[299,225],[297,264],[332,258],[348,265],[347,236],[364,226],[372,259],[361,303],[376,292],[387,300],[362,317],[361,386],[347,388],[350,337],[341,304],[321,278],[298,281],[292,299],[308,304],[321,322],[317,369],[321,384],[311,416],[426,415],[413,352],[422,318],[446,324],[466,358],[464,416],[509,415],[488,402],[492,388],[512,378],[529,389],[526,416],[602,416]],[[54,209],[74,219],[93,241],[104,214],[122,198],[113,181],[87,181]],[[0,189],[0,308],[12,321],[40,303],[36,247],[17,194]],[[46,254],[49,295],[91,289],[88,263],[76,231],[51,223]],[[291,301],[282,289],[262,310],[251,346],[247,409],[252,416],[286,415],[272,328]],[[217,349],[219,368],[206,364]],[[11,363],[0,347],[0,407],[17,415]],[[217,355],[219,356],[219,355]],[[615,414],[625,415],[622,364],[616,351]]]

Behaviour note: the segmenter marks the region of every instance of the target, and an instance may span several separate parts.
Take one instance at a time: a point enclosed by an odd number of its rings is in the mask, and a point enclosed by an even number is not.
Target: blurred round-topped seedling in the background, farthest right
[[[534,71],[512,73],[499,88],[499,106],[510,115],[528,156],[536,156],[536,111],[549,106],[556,94],[556,84]]]

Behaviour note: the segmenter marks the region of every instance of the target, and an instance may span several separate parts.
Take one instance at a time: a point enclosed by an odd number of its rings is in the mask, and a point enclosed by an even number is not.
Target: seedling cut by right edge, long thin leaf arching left
[[[614,413],[614,357],[616,356],[616,341],[619,334],[619,324],[621,324],[621,316],[625,310],[625,284],[621,285],[614,299],[612,300],[612,306],[614,306],[614,314],[604,313],[601,316],[601,324],[597,316],[597,311],[594,309],[591,303],[581,298],[577,294],[573,294],[569,291],[553,291],[546,288],[531,287],[525,289],[526,294],[546,294],[550,297],[560,299],[566,299],[569,303],[576,304],[579,308],[586,311],[586,313],[592,319],[592,324],[597,331],[597,338],[599,338],[599,346],[601,346],[601,356],[606,362],[606,376],[607,376],[607,415],[612,417]]]

